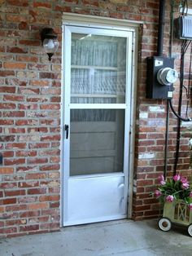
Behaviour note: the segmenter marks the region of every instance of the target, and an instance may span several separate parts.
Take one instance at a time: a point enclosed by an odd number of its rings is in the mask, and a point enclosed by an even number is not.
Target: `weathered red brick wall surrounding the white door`
[[[155,0],[0,0],[0,236],[59,229],[61,49],[49,62],[39,32],[51,26],[61,41],[63,11],[147,22],[138,46],[133,218],[159,214],[150,192],[164,170],[166,104],[145,97],[146,56],[155,55],[158,8]],[[167,3],[165,55],[169,11]],[[177,65],[180,45],[173,45]],[[173,170],[177,127],[172,113],[170,117],[168,174]],[[178,170],[190,175],[190,133],[182,129]]]

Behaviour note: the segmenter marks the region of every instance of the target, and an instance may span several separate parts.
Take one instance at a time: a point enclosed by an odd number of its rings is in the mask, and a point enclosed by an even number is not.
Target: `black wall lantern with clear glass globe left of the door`
[[[57,51],[59,42],[57,40],[57,34],[54,32],[54,29],[45,28],[41,30],[41,41],[44,50],[49,56],[49,60]]]

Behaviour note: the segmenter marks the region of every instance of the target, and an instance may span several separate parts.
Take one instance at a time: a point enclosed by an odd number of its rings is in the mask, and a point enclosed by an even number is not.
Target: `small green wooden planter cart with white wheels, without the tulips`
[[[192,236],[192,210],[185,201],[177,200],[164,203],[163,217],[159,219],[159,228],[168,232],[172,223],[181,224],[187,227],[187,231]]]

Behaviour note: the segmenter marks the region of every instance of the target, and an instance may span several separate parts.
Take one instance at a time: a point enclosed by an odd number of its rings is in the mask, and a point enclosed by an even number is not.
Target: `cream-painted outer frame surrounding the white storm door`
[[[100,18],[100,19],[98,19]],[[98,23],[99,21],[99,23]],[[110,24],[110,25],[109,25]],[[101,17],[94,17],[90,15],[74,15],[74,14],[63,14],[63,26],[62,26],[62,99],[61,99],[61,143],[60,143],[60,175],[61,175],[61,186],[60,186],[60,227],[63,227],[63,214],[64,214],[64,195],[66,196],[66,192],[64,190],[68,189],[66,188],[66,183],[64,182],[64,174],[63,174],[63,152],[65,152],[65,148],[68,147],[69,141],[64,140],[64,105],[69,104],[67,102],[64,103],[63,99],[68,99],[68,97],[65,97],[65,94],[68,93],[68,90],[64,90],[64,84],[65,84],[65,73],[70,72],[70,65],[65,67],[65,61],[64,58],[68,58],[66,56],[66,52],[64,52],[64,46],[66,43],[68,43],[68,37],[64,37],[64,26],[65,25],[74,25],[74,26],[86,26],[86,27],[93,27],[98,29],[117,29],[122,31],[129,31],[133,33],[133,47],[132,47],[132,82],[131,82],[131,110],[130,110],[130,117],[129,117],[129,156],[127,156],[127,159],[129,159],[129,166],[128,166],[128,173],[124,178],[127,178],[124,182],[124,185],[127,186],[128,190],[128,212],[127,216],[128,218],[132,217],[132,200],[133,200],[133,160],[134,160],[134,138],[135,138],[135,130],[134,130],[134,124],[135,124],[135,112],[136,112],[136,83],[137,83],[137,77],[136,77],[136,70],[137,70],[137,36],[138,36],[138,27],[139,23],[130,23],[127,20],[116,20],[116,19],[107,19],[107,18],[101,18]],[[115,26],[116,25],[116,26]],[[65,53],[65,56],[64,56]],[[65,118],[66,121],[66,118]],[[67,154],[69,151],[67,152]],[[65,157],[69,158],[69,155],[67,155],[65,152]],[[124,156],[125,159],[126,156]],[[66,163],[65,163],[66,164]],[[69,164],[69,161],[68,161]],[[128,179],[129,178],[129,179]]]

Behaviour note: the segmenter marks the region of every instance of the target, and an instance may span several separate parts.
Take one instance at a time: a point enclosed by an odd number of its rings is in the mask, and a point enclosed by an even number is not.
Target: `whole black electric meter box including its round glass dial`
[[[173,58],[163,56],[147,58],[146,98],[172,99],[173,82],[178,77],[173,67]]]

